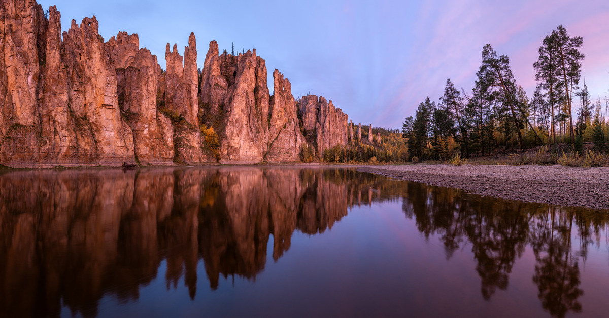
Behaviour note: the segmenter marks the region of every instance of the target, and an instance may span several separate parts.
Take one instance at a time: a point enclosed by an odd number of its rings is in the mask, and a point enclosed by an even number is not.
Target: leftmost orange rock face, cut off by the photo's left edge
[[[44,29],[35,1],[0,1],[0,164],[38,160],[38,46]]]

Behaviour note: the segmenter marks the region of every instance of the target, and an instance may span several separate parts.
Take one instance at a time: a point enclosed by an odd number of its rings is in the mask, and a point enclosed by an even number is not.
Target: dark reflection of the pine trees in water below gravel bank
[[[505,289],[515,260],[529,244],[535,257],[535,277],[543,308],[553,316],[582,310],[579,297],[578,257],[585,260],[587,247],[607,229],[607,215],[576,212],[579,209],[547,209],[541,204],[482,198],[464,199],[458,191],[410,184],[404,193],[403,210],[414,218],[417,229],[429,239],[437,235],[447,259],[471,244],[481,277],[482,296],[490,299]],[[580,238],[578,256],[572,254],[572,225]],[[592,237],[596,237],[593,240]]]

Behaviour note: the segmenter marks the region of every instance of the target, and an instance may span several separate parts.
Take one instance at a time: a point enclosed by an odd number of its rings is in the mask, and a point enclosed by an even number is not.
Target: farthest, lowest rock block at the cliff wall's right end
[[[334,107],[332,101],[328,103],[323,96],[306,95],[300,99],[298,110],[306,135],[315,136],[317,153],[321,155],[328,148],[347,144],[347,115]]]

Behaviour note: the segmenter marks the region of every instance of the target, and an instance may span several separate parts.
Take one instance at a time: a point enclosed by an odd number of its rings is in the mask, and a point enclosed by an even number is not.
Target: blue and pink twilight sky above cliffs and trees
[[[609,1],[65,1],[62,29],[96,16],[108,40],[138,33],[139,44],[164,68],[165,46],[197,38],[199,67],[209,41],[220,52],[255,48],[272,73],[292,83],[292,94],[323,95],[354,123],[401,128],[426,97],[438,101],[446,79],[471,95],[481,51],[492,44],[510,58],[516,84],[535,91],[538,49],[563,25],[582,36],[582,81],[593,100],[609,97]],[[581,84],[581,83],[580,83]],[[607,97],[606,97],[607,96]],[[605,101],[603,101],[605,103]],[[579,102],[574,102],[579,106]]]

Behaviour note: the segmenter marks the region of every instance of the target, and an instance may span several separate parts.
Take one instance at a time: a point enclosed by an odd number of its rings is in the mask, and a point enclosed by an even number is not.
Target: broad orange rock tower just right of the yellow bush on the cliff
[[[214,43],[210,44],[210,55],[217,49]],[[222,109],[219,113],[221,120],[210,119],[209,125],[221,122],[217,127],[220,137],[220,162],[232,164],[246,164],[261,162],[267,152],[268,122],[269,122],[269,88],[267,87],[267,71],[264,60],[256,56],[256,50],[248,50],[238,57],[220,55],[220,63],[205,65],[203,78],[209,83],[227,83],[230,85],[225,93]],[[206,58],[213,63],[214,59]],[[217,67],[220,67],[218,71]],[[220,74],[220,75],[214,75]],[[222,78],[220,78],[222,77]],[[214,88],[213,86],[216,86]],[[202,96],[214,95],[219,97],[222,88],[218,85],[207,85],[202,89]],[[218,99],[219,100],[219,99]],[[220,104],[220,105],[222,105]],[[213,112],[213,108],[211,110]]]

